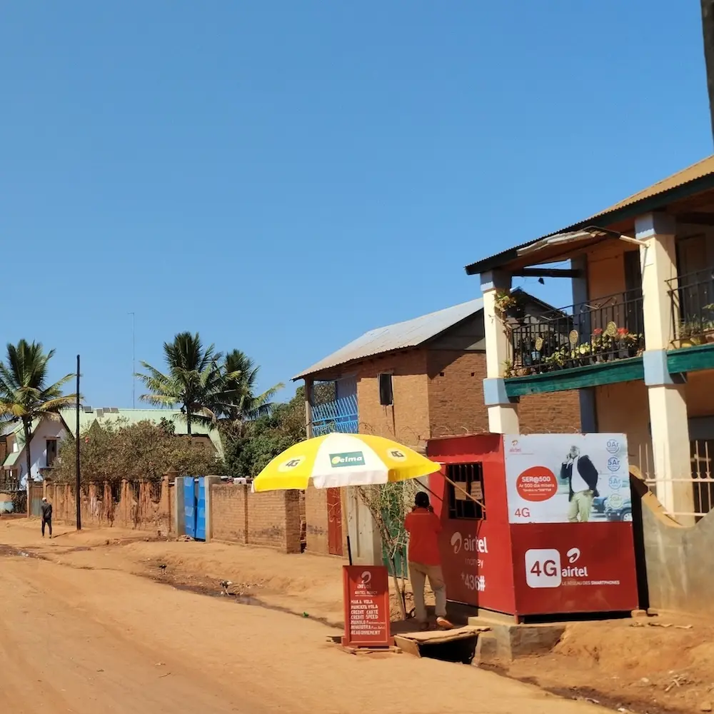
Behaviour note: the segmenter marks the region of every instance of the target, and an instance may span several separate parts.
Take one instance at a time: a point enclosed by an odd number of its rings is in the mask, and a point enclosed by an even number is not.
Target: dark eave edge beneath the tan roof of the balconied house
[[[563,228],[560,231],[548,233],[547,236],[540,236],[540,238],[535,238],[533,241],[523,243],[515,248],[508,248],[507,251],[497,253],[495,256],[490,256],[489,258],[484,258],[482,261],[471,263],[471,265],[466,266],[464,270],[466,271],[466,275],[479,275],[487,271],[496,270],[497,268],[503,268],[519,257],[519,251],[533,245],[533,243],[542,241],[543,238],[557,236],[558,233],[578,231],[581,228],[593,225],[598,225],[600,228],[608,228],[608,226],[613,225],[613,223],[627,221],[628,219],[636,218],[650,211],[658,211],[660,208],[665,208],[667,204],[672,201],[690,198],[690,196],[695,196],[695,194],[702,193],[710,188],[714,188],[714,173],[700,176],[699,178],[693,179],[693,181],[688,181],[688,183],[682,183],[680,186],[673,186],[673,188],[668,188],[661,193],[655,193],[654,196],[648,196],[640,201],[629,203],[627,206],[622,206],[622,208],[615,208],[613,211],[605,211],[605,213],[598,213],[590,218],[585,218],[584,221],[573,223],[572,226]],[[603,219],[605,219],[604,222]]]

